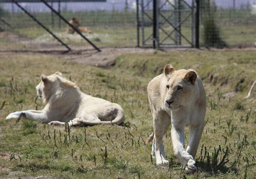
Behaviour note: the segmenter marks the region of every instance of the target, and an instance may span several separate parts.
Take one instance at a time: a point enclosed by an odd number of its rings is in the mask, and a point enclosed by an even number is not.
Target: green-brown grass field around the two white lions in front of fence
[[[45,54],[0,54],[0,178],[252,179],[256,177],[256,51],[192,51],[124,54],[112,69],[90,67]],[[155,166],[147,84],[171,63],[203,78],[207,112],[197,151],[198,171],[186,175],[173,155],[170,130],[164,145],[170,166]],[[42,109],[35,86],[41,74],[60,71],[83,92],[120,104],[122,127],[51,127],[10,112]],[[186,128],[186,140],[188,129]]]

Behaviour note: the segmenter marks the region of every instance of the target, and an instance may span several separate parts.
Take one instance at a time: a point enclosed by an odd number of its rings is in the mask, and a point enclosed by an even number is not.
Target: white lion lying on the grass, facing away
[[[42,111],[13,112],[6,119],[23,116],[51,125],[65,125],[68,121],[69,126],[120,124],[125,119],[119,104],[84,94],[60,72],[49,76],[41,75],[41,82],[36,90],[45,104]]]

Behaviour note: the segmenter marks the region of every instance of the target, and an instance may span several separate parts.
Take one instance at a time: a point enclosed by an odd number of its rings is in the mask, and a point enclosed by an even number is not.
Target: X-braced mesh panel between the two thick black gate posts
[[[159,0],[159,45],[194,45],[194,1]]]

